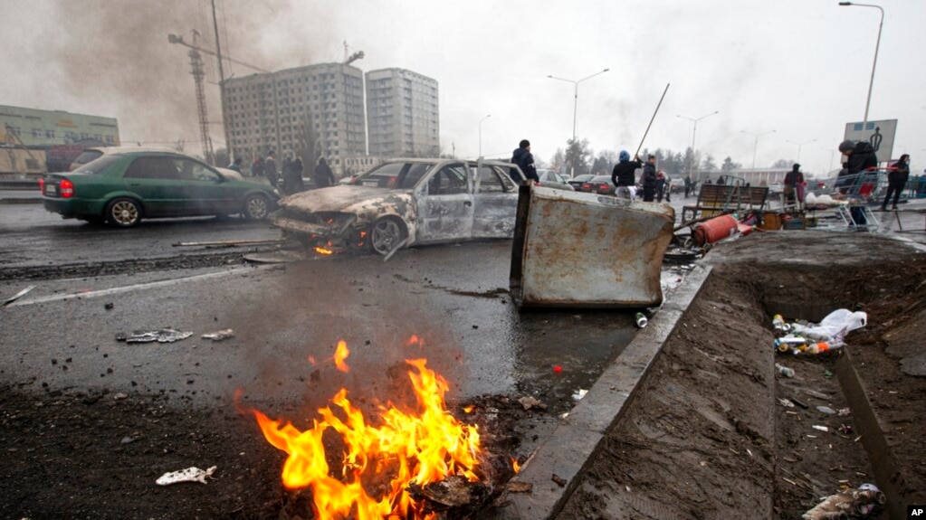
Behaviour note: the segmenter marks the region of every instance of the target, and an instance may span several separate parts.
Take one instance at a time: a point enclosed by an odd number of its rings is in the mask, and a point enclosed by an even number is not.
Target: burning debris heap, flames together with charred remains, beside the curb
[[[349,353],[340,341],[333,359],[339,370],[349,369]],[[283,486],[310,489],[315,517],[465,515],[504,490],[496,484],[517,471],[517,461],[483,450],[479,427],[451,414],[444,402],[448,384],[427,360],[406,363],[416,399],[411,406],[386,402],[368,415],[341,389],[304,431],[252,410],[264,437],[288,454]],[[474,409],[464,408],[467,414]],[[326,445],[341,448],[340,457]]]

